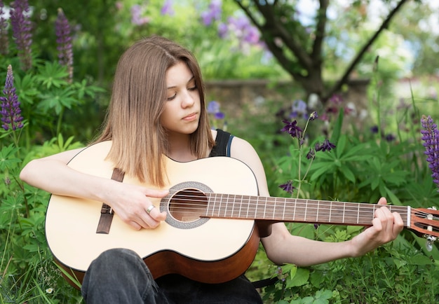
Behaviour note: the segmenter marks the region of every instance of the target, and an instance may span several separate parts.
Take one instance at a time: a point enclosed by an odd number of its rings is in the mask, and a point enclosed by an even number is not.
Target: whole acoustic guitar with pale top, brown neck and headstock
[[[117,177],[117,170],[105,160],[111,145],[111,141],[104,141],[89,146],[68,165],[87,174],[121,180],[120,172]],[[166,165],[170,193],[152,201],[168,215],[156,229],[134,230],[102,202],[51,195],[46,238],[55,261],[68,275],[82,282],[90,263],[103,251],[127,248],[144,259],[154,278],[178,273],[199,282],[227,282],[243,274],[255,258],[259,223],[370,226],[375,209],[380,207],[258,196],[252,170],[234,158],[188,163],[168,158]],[[140,184],[128,176],[123,177],[123,183]],[[430,240],[438,237],[437,211],[388,207],[400,213],[405,228]]]

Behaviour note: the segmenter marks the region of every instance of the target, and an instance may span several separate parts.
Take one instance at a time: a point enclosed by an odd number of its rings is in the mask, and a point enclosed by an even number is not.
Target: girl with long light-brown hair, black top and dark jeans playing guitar
[[[81,149],[32,160],[20,178],[57,195],[105,202],[137,230],[157,228],[166,219],[166,212],[154,208],[150,200],[168,194],[157,190],[166,184],[165,156],[188,162],[229,154],[250,167],[259,195],[269,196],[264,168],[254,148],[244,139],[210,130],[198,63],[188,50],[168,39],[142,39],[121,56],[107,118],[95,142],[107,140],[112,140],[107,159],[115,167],[156,187],[73,170],[67,163]],[[381,198],[379,205],[386,205],[386,200]],[[381,207],[371,225],[349,241],[330,243],[290,235],[283,223],[273,223],[271,234],[261,241],[274,263],[315,265],[361,256],[395,240],[403,220]],[[223,284],[203,284],[180,275],[154,280],[142,258],[129,249],[111,249],[93,261],[81,292],[87,303],[262,303],[244,276]]]

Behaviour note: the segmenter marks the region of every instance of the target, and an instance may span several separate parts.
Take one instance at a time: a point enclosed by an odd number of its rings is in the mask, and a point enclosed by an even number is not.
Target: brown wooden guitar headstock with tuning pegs
[[[439,211],[435,207],[412,209],[410,229],[426,238],[427,250],[431,251],[433,242],[439,237]]]

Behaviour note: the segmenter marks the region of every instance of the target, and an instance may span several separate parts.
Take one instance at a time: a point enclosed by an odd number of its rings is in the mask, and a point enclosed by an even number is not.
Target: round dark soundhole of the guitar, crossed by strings
[[[191,222],[205,214],[208,199],[197,189],[184,189],[173,195],[169,202],[169,212],[177,221]]]

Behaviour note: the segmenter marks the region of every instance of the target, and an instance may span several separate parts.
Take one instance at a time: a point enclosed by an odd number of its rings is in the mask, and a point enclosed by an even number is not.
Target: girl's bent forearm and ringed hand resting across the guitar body
[[[166,213],[158,208],[150,214],[146,210],[152,203],[149,198],[163,198],[167,190],[124,184],[76,171],[67,163],[79,152],[81,148],[31,160],[22,169],[20,179],[49,193],[105,202],[135,229],[156,228],[166,219]]]

